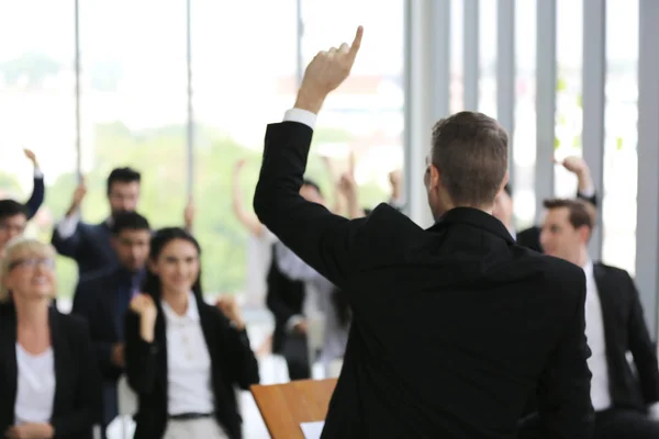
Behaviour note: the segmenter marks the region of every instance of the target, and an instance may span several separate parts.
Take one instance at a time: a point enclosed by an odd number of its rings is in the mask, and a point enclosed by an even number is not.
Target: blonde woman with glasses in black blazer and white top
[[[34,239],[7,246],[0,268],[0,434],[88,439],[101,382],[86,323],[51,306],[55,250]]]

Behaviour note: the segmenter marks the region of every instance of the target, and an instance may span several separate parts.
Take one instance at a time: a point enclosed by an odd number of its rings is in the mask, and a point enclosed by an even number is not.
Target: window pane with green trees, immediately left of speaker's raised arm
[[[266,125],[294,103],[295,18],[295,0],[192,1],[196,233],[208,291],[241,292],[247,281],[253,238],[232,213],[232,172],[246,160],[250,211]]]

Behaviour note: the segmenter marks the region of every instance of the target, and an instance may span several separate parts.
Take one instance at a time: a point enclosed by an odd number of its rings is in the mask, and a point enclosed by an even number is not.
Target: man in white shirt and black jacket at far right
[[[594,438],[659,438],[659,367],[634,281],[625,270],[593,263],[588,241],[592,206],[578,200],[545,201],[545,252],[583,268],[585,336],[592,351]],[[626,354],[634,357],[635,369]]]

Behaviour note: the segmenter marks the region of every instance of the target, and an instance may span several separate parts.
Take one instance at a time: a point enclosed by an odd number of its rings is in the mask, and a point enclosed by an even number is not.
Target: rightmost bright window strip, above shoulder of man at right
[[[634,273],[638,178],[638,0],[606,2],[602,259]]]

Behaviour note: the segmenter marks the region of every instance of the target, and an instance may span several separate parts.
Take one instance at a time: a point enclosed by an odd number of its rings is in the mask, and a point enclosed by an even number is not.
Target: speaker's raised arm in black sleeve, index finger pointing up
[[[351,46],[321,52],[311,61],[295,108],[283,123],[268,126],[254,210],[287,247],[334,284],[345,284],[359,260],[358,236],[364,219],[349,222],[300,195],[316,114],[327,94],[349,75],[362,30]]]

